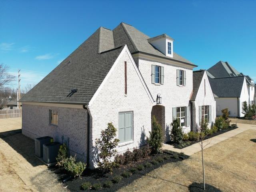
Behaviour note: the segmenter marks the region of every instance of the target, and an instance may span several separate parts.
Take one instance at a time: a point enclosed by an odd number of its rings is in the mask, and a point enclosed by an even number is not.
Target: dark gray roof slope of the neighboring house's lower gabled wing
[[[209,78],[212,92],[218,97],[240,97],[244,76]]]

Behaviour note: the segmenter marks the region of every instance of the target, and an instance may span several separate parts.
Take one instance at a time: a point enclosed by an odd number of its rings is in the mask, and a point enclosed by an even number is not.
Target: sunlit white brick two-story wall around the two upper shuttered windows
[[[170,130],[172,122],[172,108],[189,106],[190,94],[193,90],[193,72],[191,69],[178,67],[175,64],[165,64],[147,60],[144,58],[135,58],[138,63],[139,70],[150,90],[154,100],[160,93],[162,97],[162,105],[165,107],[165,124],[166,129]],[[164,84],[155,85],[151,82],[152,65],[164,66]],[[186,86],[177,86],[176,77],[177,69],[186,70]],[[184,132],[189,132],[190,126],[184,127]]]

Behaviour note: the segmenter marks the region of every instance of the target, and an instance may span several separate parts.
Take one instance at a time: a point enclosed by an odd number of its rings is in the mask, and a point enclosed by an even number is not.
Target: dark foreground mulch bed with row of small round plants
[[[188,158],[189,156],[186,156],[184,154],[179,154],[176,152],[172,151],[167,151],[165,150],[163,153],[156,154],[149,156],[148,158],[144,160],[140,160],[140,162],[132,162],[131,164],[128,165],[123,165],[120,166],[119,168],[114,168],[113,169],[113,174],[107,173],[102,175],[101,170],[99,169],[94,169],[94,170],[86,170],[80,178],[73,178],[71,180],[68,180],[67,182],[64,183],[64,186],[67,186],[66,188],[70,191],[102,191],[102,192],[113,192],[118,190],[119,188],[122,188],[124,186],[127,186],[128,184],[132,183],[134,180],[142,177],[143,175],[146,175],[147,173],[151,172],[152,170],[163,166],[164,164],[171,163],[171,162],[177,162],[181,161],[183,159]],[[154,165],[151,162],[153,160],[157,160],[158,158],[163,158],[163,162],[158,162],[158,164]],[[144,167],[143,170],[136,170],[135,173],[131,173],[130,169],[131,168],[136,168],[138,165],[144,165],[147,162],[150,162],[151,167]],[[58,168],[52,168],[52,170],[58,174],[60,182],[62,182],[65,178],[68,177],[67,172],[63,169],[58,169]],[[116,176],[121,176],[123,172],[129,172],[130,176],[125,178],[122,177],[122,180],[118,183],[113,183],[112,179]],[[112,182],[112,186],[110,188],[104,188],[103,184],[106,181]],[[93,190],[93,189],[88,189],[88,190],[82,190],[81,185],[84,182],[90,182],[92,185],[93,184],[100,184],[102,186],[101,190]]]

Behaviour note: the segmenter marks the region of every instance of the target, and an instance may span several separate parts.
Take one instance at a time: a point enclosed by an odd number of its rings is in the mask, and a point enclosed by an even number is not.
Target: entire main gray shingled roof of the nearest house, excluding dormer
[[[126,44],[131,53],[144,52],[194,66],[176,53],[173,58],[165,56],[148,38],[125,23],[114,30],[100,27],[21,101],[88,104]],[[76,89],[71,94],[71,90]]]

